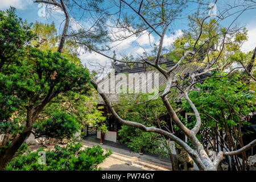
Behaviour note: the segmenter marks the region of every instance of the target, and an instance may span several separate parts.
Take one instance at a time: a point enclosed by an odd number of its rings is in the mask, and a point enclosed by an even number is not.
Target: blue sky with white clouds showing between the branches
[[[229,1],[229,0],[227,0]],[[214,1],[213,1],[214,2]],[[221,1],[219,1],[221,2]],[[233,1],[230,1],[233,2]],[[6,10],[10,6],[14,6],[17,9],[17,14],[22,19],[26,19],[28,22],[42,22],[42,23],[51,23],[52,21],[55,22],[56,28],[61,32],[60,23],[63,22],[64,16],[61,13],[56,13],[51,16],[51,18],[39,16],[42,13],[42,7],[38,5],[38,3],[33,3],[33,0],[0,0],[0,10]],[[221,4],[217,3],[218,6],[222,6]],[[193,9],[193,7],[188,7],[185,14],[189,13],[189,10]],[[230,23],[230,19],[227,19],[225,23]],[[238,19],[238,23],[241,26],[246,26],[248,30],[249,40],[243,45],[243,51],[251,51],[256,47],[256,10],[249,10],[246,13],[243,13],[242,16]],[[85,22],[79,22],[82,26],[85,25]],[[181,19],[177,21],[173,28],[174,28],[174,35],[167,33],[166,39],[164,40],[164,46],[171,44],[177,36],[181,36],[181,30],[186,28],[185,19]],[[72,26],[77,26],[76,23],[72,22]],[[158,43],[159,37],[152,34],[151,35],[151,43]],[[149,45],[148,36],[142,36],[141,38],[131,38],[126,40],[125,42],[118,42],[116,43],[118,50],[122,50],[124,53],[138,53],[141,54],[144,50],[142,48],[135,48],[135,44],[139,44],[146,49],[146,51],[150,51],[151,47]],[[97,55],[96,53],[85,53],[84,55],[80,56],[82,63],[88,63],[88,61],[98,61],[104,63],[105,61],[109,61],[104,56]]]

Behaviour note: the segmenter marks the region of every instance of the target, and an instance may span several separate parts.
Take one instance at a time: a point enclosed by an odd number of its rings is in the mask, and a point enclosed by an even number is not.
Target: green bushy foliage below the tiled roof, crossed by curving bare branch
[[[151,94],[121,95],[117,106],[118,114],[123,119],[136,121],[148,127],[155,126],[170,129],[170,126],[167,125],[170,120],[168,120],[166,107],[164,107],[161,98],[155,97],[152,100],[148,100],[150,96]],[[175,90],[172,90],[172,96],[170,103],[175,108]],[[163,136],[155,133],[146,133],[130,126],[121,127],[121,130],[118,131],[118,135],[121,137],[120,142],[126,143],[133,152],[143,149],[143,151],[150,154],[168,155],[170,148],[167,146],[167,140]]]

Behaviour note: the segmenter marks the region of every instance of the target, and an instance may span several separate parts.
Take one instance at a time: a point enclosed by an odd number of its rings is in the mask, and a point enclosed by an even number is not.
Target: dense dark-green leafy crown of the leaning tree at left
[[[26,57],[0,72],[0,118],[4,120],[30,102],[49,102],[69,90],[88,92],[89,73],[59,53],[30,48]],[[47,103],[46,103],[47,104]]]

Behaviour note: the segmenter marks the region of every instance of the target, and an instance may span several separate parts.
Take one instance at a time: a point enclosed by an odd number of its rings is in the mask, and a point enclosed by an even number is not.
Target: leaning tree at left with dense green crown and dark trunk
[[[28,48],[26,56],[0,72],[1,134],[5,134],[0,155],[0,168],[15,155],[15,152],[31,132],[43,108],[60,93],[72,90],[86,93],[90,89],[87,69],[64,59],[60,53]],[[22,111],[26,119],[20,119],[10,130],[9,118],[14,111]],[[23,120],[24,119],[24,120]],[[13,139],[9,137],[13,135]]]

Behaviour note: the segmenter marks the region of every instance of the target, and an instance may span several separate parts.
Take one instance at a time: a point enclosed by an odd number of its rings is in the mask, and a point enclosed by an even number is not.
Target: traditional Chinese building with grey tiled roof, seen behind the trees
[[[173,67],[176,63],[172,60],[168,60],[166,57],[162,56],[159,60],[159,65],[162,65],[163,68],[170,68]],[[166,84],[166,78],[159,73],[156,69],[152,67],[146,67],[144,64],[112,64],[113,66],[113,72],[109,73],[108,76],[104,77],[101,81],[98,82],[99,86],[106,86],[107,89],[105,89],[107,92],[106,95],[108,96],[108,99],[112,105],[118,104],[118,97],[119,94],[117,92],[117,88],[129,88],[131,86],[132,88],[138,88],[137,90],[140,93],[151,93],[154,92],[154,89],[160,86],[163,86]],[[196,65],[190,64],[188,65],[179,65],[174,72],[179,73],[183,77],[189,76],[193,72],[201,72],[202,69],[197,69]],[[158,75],[158,76],[156,76]],[[210,73],[207,73],[205,76],[210,76]],[[112,78],[113,79],[112,80]],[[129,79],[132,77],[132,79]],[[111,85],[111,82],[113,85]],[[114,89],[113,89],[114,88]],[[129,88],[130,89],[130,88]],[[176,102],[180,102],[180,98],[183,97],[183,94],[179,94],[179,96],[176,98]],[[108,132],[105,135],[102,135],[100,131],[96,131],[94,128],[93,134],[97,136],[97,138],[101,138],[101,140],[110,140],[112,142],[117,142],[119,139],[118,136],[118,130],[121,129],[121,124],[117,121],[117,119],[114,118],[114,116],[110,113],[107,106],[105,106],[104,100],[101,98],[100,94],[98,94],[98,99],[96,100],[98,106],[104,106],[104,109],[102,110],[104,112],[104,116],[106,117],[106,126],[108,127]],[[194,113],[185,113],[184,111],[180,111],[180,114],[183,115],[185,119],[189,121],[189,119],[192,117],[191,115],[195,115]],[[166,121],[167,125],[171,125],[171,118],[168,114],[164,116],[164,118],[161,118],[162,120]],[[248,121],[252,122],[252,125],[250,126],[250,131],[254,130],[254,138],[256,135],[256,121],[255,121],[255,115],[251,113],[251,115],[247,116]],[[92,127],[93,129],[93,127]],[[247,129],[246,129],[247,130]],[[249,129],[248,129],[249,130]],[[200,130],[201,133],[204,135],[207,135],[209,132],[208,129]],[[90,131],[89,131],[90,133]],[[187,140],[187,137],[185,135],[177,136],[183,140]],[[250,136],[251,137],[251,136]],[[245,143],[251,142],[250,137],[245,137]],[[203,138],[203,143],[205,146],[207,146],[209,138]],[[205,141],[205,142],[204,142]],[[250,154],[255,154],[256,147],[252,148],[250,151],[248,151]]]

